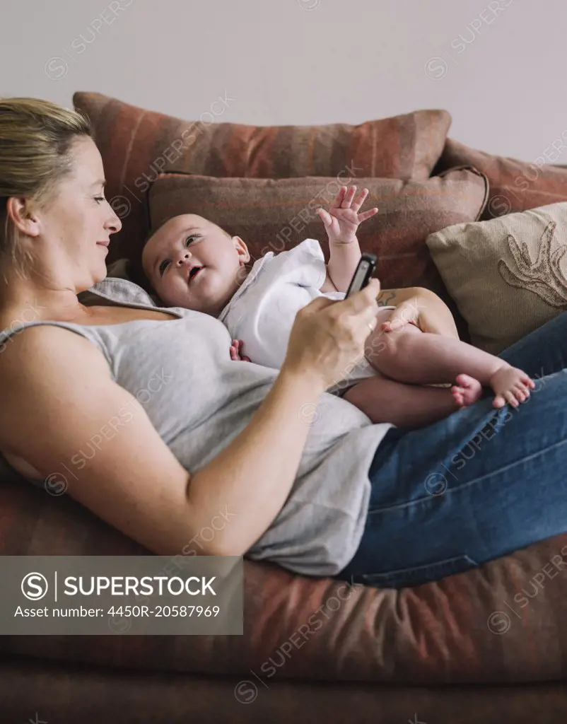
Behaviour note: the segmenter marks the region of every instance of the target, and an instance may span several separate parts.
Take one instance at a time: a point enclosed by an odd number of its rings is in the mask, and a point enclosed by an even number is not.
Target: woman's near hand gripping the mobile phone
[[[376,327],[378,279],[348,299],[317,297],[298,311],[287,343],[283,369],[312,374],[322,390],[348,374],[364,357],[364,344]]]

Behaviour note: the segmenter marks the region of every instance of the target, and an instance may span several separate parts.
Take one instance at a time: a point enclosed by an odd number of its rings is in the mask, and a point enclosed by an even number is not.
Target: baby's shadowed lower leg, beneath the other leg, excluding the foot
[[[476,384],[480,388],[480,383]],[[363,411],[372,422],[391,422],[408,428],[442,420],[462,406],[451,390],[419,387],[381,377],[367,377],[357,382],[345,392],[343,399]]]

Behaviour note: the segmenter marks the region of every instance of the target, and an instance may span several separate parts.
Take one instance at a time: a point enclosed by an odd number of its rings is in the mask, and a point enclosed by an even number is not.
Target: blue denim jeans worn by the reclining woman
[[[530,397],[474,405],[420,429],[390,429],[371,463],[358,550],[337,578],[416,586],[567,531],[567,312],[500,358]]]

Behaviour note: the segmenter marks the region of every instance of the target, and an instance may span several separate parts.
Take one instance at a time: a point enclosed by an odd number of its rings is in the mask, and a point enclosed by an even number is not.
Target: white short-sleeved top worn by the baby
[[[321,292],[327,269],[321,245],[306,239],[293,249],[259,258],[219,315],[232,339],[243,340],[243,353],[256,364],[280,369],[298,311],[316,297],[343,300],[345,292]],[[382,307],[395,309],[395,307]],[[345,369],[327,392],[337,394],[377,372],[366,359]]]

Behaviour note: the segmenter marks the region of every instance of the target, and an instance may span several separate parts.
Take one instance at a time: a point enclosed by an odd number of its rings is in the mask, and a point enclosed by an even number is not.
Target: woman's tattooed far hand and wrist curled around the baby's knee
[[[382,294],[389,295],[388,304],[396,305],[390,321],[384,322],[380,327],[384,332],[395,332],[404,324],[414,324],[421,332],[459,339],[455,320],[448,306],[429,289],[411,287],[407,290],[384,290]]]

